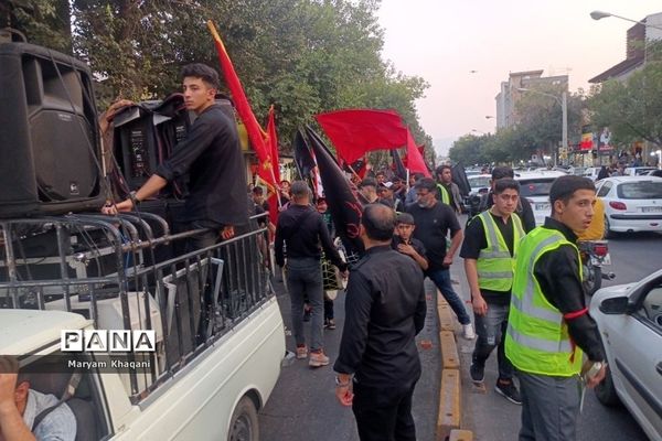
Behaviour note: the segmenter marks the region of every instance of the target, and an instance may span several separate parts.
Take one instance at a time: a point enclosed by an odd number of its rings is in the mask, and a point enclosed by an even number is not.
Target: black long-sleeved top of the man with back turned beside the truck
[[[301,259],[312,257],[320,259],[322,250],[320,243],[324,248],[324,255],[339,269],[345,270],[346,263],[342,261],[338,250],[331,241],[329,228],[322,219],[322,215],[310,205],[292,204],[278,216],[276,226],[276,241],[274,244],[276,251],[276,263],[285,265],[285,252],[282,245],[287,245],[287,257]]]

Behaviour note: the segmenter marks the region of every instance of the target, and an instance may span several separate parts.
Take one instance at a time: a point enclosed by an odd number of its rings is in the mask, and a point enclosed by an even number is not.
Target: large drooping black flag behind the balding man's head
[[[359,237],[363,208],[356,198],[356,190],[333,159],[324,141],[310,127],[306,127],[306,133],[317,159],[333,225],[345,247],[348,262],[353,263],[363,255],[363,243]]]

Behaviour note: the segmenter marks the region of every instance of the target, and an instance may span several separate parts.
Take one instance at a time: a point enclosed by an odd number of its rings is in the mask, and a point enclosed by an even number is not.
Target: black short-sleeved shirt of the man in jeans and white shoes
[[[418,204],[409,204],[407,213],[414,216],[416,229],[414,237],[423,243],[429,267],[428,272],[445,269],[446,237],[455,236],[461,228],[453,209],[444,203],[437,202],[429,208],[421,208]]]

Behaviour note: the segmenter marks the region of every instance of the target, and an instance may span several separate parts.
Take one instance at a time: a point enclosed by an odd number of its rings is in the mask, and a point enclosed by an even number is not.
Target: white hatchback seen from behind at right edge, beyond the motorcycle
[[[662,232],[662,178],[613,176],[598,183],[605,202],[605,236]]]

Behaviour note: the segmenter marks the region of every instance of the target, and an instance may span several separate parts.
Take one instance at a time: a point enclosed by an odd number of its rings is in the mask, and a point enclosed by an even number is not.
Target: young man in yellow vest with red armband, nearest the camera
[[[511,295],[505,355],[522,391],[520,440],[576,439],[586,386],[605,378],[605,355],[581,284],[577,236],[594,216],[595,185],[580,176],[552,184],[552,217],[520,244]],[[588,362],[581,364],[583,353]],[[591,375],[592,373],[592,375]]]

